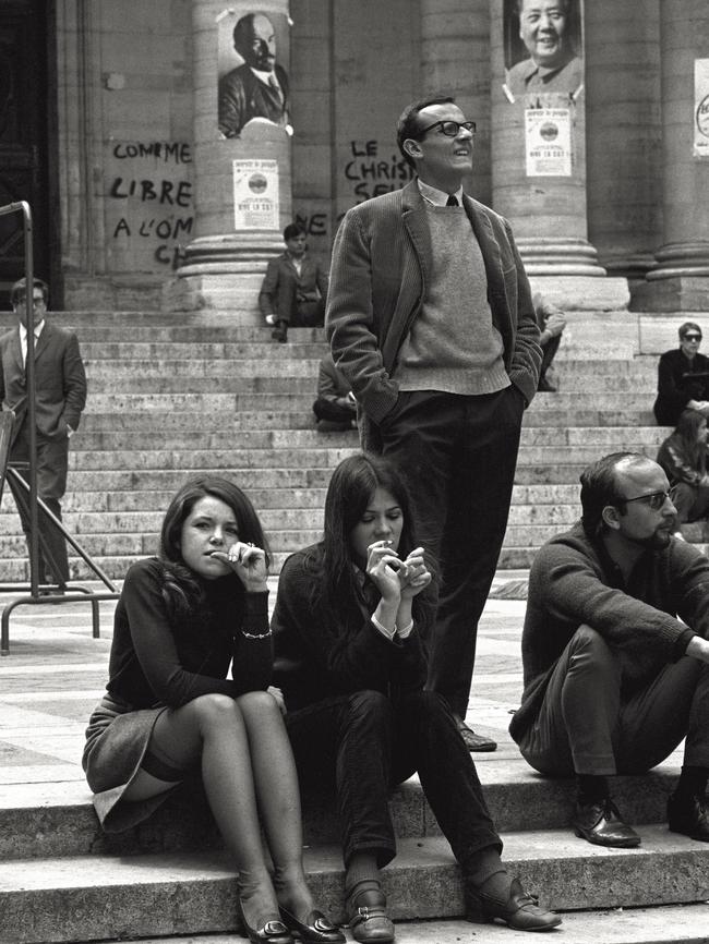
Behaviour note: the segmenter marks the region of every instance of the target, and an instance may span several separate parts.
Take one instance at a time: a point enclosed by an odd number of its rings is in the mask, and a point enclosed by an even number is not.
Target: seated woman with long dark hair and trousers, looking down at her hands
[[[561,918],[507,874],[456,721],[423,688],[430,583],[395,467],[345,459],[327,489],[323,540],[284,565],[272,628],[301,788],[327,785],[336,798],[349,927],[356,941],[394,940],[380,875],[396,855],[388,795],[417,771],[462,870],[468,918],[556,927]]]

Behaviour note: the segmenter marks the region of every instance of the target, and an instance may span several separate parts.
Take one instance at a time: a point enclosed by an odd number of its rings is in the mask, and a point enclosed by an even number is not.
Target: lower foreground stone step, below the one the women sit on
[[[640,832],[639,849],[605,849],[556,831],[508,835],[504,860],[556,910],[705,900],[709,848],[657,826]],[[305,870],[315,900],[341,920],[339,847],[305,849]],[[400,840],[382,878],[394,919],[462,915],[460,873],[442,838]],[[226,854],[16,860],[0,863],[0,941],[227,931],[236,925],[235,895]]]

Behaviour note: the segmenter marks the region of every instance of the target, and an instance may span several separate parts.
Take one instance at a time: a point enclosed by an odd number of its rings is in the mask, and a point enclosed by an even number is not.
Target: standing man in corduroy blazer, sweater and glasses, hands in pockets
[[[453,98],[405,109],[397,141],[417,179],[346,214],[326,329],[362,447],[407,476],[436,561],[428,687],[448,701],[468,749],[491,751],[465,716],[541,349],[509,223],[462,190],[474,131]]]

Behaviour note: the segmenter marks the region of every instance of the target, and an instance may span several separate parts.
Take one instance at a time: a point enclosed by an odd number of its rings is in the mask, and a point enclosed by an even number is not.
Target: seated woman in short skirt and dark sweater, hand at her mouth
[[[313,908],[296,768],[266,690],[267,578],[264,534],[243,492],[217,476],[188,482],[167,510],[157,557],[125,577],[83,765],[107,832],[144,820],[199,770],[239,872],[245,934],[291,944],[296,930],[334,944],[345,937]]]

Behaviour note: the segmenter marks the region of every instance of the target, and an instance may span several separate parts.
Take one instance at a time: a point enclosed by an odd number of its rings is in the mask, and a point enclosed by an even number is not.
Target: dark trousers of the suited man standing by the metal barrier
[[[29,460],[29,431],[24,422],[17,432],[10,452],[10,462],[27,462]],[[37,495],[51,513],[61,521],[60,499],[67,491],[67,469],[69,463],[69,439],[49,439],[37,435]],[[28,482],[28,472],[19,469],[17,472]],[[20,510],[20,520],[29,546],[29,519]],[[47,524],[41,527],[43,515],[39,513],[39,583],[48,583],[49,574],[57,583],[69,580],[69,559],[67,542],[56,528]],[[43,547],[44,552],[43,553]]]

